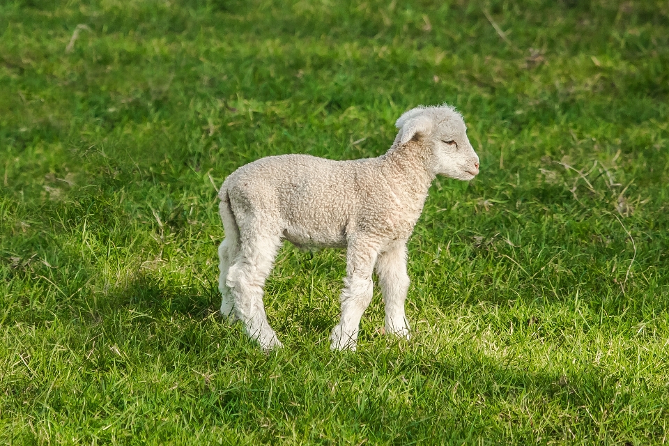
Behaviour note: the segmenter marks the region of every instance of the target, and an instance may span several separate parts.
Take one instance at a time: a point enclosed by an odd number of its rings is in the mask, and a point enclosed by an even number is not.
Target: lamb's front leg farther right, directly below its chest
[[[379,256],[376,273],[385,302],[385,331],[409,339],[409,323],[404,313],[404,301],[409,289],[406,240],[397,240]]]

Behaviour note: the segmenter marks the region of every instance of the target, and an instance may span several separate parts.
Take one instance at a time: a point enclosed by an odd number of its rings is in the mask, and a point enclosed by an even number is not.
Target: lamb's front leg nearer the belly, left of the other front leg
[[[332,330],[332,350],[355,350],[360,318],[369,307],[374,291],[371,274],[378,256],[378,245],[370,240],[352,240],[346,252],[346,278],[341,290],[341,319]]]

